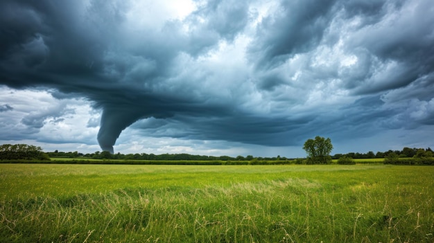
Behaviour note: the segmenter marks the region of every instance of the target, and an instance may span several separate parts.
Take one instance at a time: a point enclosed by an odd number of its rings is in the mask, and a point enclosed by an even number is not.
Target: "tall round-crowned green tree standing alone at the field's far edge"
[[[330,138],[315,136],[315,139],[308,139],[303,146],[307,153],[307,163],[331,163],[330,152],[333,150]]]

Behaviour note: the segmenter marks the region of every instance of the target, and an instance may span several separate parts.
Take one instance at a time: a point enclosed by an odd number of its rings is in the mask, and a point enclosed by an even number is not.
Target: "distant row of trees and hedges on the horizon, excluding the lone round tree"
[[[350,152],[329,156],[338,164],[355,164],[354,159],[384,159],[383,163],[394,165],[434,165],[433,150],[430,147],[388,150],[386,152],[367,152],[365,154]],[[51,158],[55,160],[51,161]],[[62,160],[64,158],[64,160]],[[0,145],[1,163],[131,163],[131,164],[219,164],[219,165],[279,165],[279,164],[311,164],[308,159],[276,157],[254,157],[252,155],[236,157],[207,156],[192,154],[110,154],[110,152],[94,152],[83,154],[75,152],[42,152],[41,147],[26,144]],[[49,162],[51,161],[51,162]],[[121,161],[121,162],[120,162]],[[327,163],[332,163],[331,159]]]

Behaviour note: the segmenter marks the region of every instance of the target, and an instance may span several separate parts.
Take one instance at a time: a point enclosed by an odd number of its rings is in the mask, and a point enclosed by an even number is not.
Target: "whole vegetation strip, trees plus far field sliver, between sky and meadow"
[[[367,152],[367,154],[348,153],[329,156],[333,149],[330,138],[316,136],[304,144],[308,156],[306,159],[287,159],[285,157],[261,158],[248,155],[236,156],[200,156],[191,154],[110,154],[95,152],[42,152],[41,147],[26,144],[0,145],[0,163],[79,163],[79,164],[129,164],[129,165],[289,165],[289,164],[329,164],[351,165],[356,163],[389,163],[394,165],[434,165],[431,148],[401,151]],[[50,158],[51,156],[51,158]]]

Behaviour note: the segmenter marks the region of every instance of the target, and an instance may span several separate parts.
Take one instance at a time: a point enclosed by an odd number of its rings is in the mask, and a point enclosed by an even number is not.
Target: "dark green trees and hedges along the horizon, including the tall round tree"
[[[352,159],[385,159],[385,163],[391,164],[434,164],[433,150],[430,147],[410,148],[403,147],[402,150],[388,150],[385,152],[370,151],[367,153],[349,152],[347,154],[329,153],[333,149],[330,138],[322,138],[320,136],[315,139],[309,139],[304,143],[306,150],[306,159],[288,159],[284,156],[276,157],[254,157],[252,155],[236,157],[233,156],[207,156],[193,154],[110,154],[110,152],[96,151],[94,153],[83,154],[77,151],[74,152],[42,152],[41,147],[26,144],[3,144],[0,145],[0,160],[40,160],[49,161],[50,158],[77,158],[77,159],[102,159],[102,160],[124,160],[124,161],[249,161],[248,164],[261,164],[266,161],[275,161],[275,163],[331,163],[331,159],[338,159],[338,163],[354,163]],[[251,162],[251,163],[250,163]]]

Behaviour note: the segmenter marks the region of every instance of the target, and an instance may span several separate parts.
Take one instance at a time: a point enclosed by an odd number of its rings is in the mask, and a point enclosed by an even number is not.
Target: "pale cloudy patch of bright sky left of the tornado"
[[[0,87],[0,104],[11,107],[0,116],[2,144],[29,143],[46,152],[100,149],[96,134],[101,111],[93,109],[84,98],[57,99],[49,91]]]

